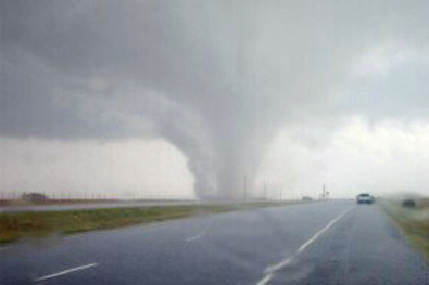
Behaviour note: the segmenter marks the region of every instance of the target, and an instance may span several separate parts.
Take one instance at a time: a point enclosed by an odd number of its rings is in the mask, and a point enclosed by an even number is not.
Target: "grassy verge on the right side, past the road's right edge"
[[[381,206],[408,242],[420,249],[429,261],[429,199],[417,199],[415,208],[404,208],[400,200],[390,199],[383,200]]]

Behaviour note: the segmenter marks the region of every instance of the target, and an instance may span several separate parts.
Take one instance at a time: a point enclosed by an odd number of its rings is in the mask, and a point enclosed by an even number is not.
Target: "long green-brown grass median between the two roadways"
[[[102,229],[188,218],[227,211],[283,206],[302,202],[258,202],[247,204],[180,205],[106,208],[71,211],[27,211],[0,215],[0,245],[22,238],[70,235]]]

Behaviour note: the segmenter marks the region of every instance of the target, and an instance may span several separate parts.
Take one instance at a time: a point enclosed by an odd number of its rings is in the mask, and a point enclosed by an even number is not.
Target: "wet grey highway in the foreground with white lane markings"
[[[429,284],[377,205],[320,202],[15,244],[1,284]]]

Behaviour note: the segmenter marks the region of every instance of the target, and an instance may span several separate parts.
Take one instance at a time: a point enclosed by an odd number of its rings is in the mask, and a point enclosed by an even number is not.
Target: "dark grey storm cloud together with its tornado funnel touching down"
[[[161,135],[187,155],[205,197],[237,196],[285,124],[317,120],[329,132],[344,115],[338,102],[357,101],[332,89],[366,49],[429,42],[425,1],[42,0],[0,10],[3,135]]]

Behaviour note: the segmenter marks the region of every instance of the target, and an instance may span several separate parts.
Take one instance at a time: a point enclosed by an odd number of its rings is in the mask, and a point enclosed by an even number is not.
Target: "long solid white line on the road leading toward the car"
[[[342,213],[340,213],[339,216],[337,216],[333,220],[331,220],[327,225],[325,225],[321,230],[317,231],[317,233],[315,233],[308,241],[306,241],[304,244],[302,244],[298,249],[294,255],[292,255],[291,257],[286,258],[285,260],[269,265],[264,270],[265,276],[256,283],[256,285],[265,285],[268,284],[268,282],[273,278],[273,273],[286,265],[288,265],[289,263],[291,263],[293,261],[293,259],[301,254],[302,251],[304,251],[305,248],[307,248],[311,244],[313,244],[320,235],[323,235],[326,231],[328,231],[336,222],[338,222],[342,217],[344,217],[353,207],[344,210]]]

